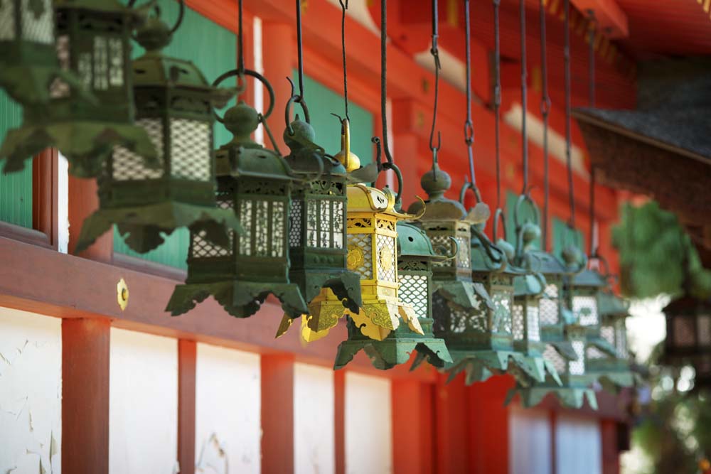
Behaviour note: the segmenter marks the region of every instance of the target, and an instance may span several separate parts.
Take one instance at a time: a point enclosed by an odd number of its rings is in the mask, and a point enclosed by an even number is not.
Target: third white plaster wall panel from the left
[[[260,387],[259,355],[198,344],[196,473],[260,472]]]

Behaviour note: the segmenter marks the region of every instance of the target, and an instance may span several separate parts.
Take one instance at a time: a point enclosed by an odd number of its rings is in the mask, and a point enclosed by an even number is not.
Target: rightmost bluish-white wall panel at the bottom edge
[[[602,438],[599,420],[560,415],[555,424],[555,465],[558,474],[601,474]]]

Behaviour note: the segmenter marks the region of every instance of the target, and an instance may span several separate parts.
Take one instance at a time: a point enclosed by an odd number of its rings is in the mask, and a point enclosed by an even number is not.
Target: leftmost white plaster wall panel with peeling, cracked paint
[[[62,320],[0,307],[0,473],[59,474]]]

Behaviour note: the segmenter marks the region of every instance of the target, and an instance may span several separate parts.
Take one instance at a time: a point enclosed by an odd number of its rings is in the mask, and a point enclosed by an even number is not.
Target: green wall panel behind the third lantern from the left
[[[161,7],[162,17],[172,24],[178,14],[178,3],[173,0],[159,0],[158,4]],[[220,74],[237,66],[237,37],[231,31],[186,8],[183,24],[164,52],[166,55],[193,61],[208,82],[212,83]],[[143,54],[143,48],[134,43],[132,53],[134,58],[138,57]],[[231,84],[233,83],[230,83],[230,80],[223,82],[225,86]],[[234,101],[230,104],[233,103]],[[223,109],[223,112],[224,110],[226,109]],[[215,125],[215,146],[224,144],[230,138],[231,134],[222,125]],[[178,229],[157,249],[146,254],[137,254],[129,249],[114,230],[114,252],[181,269],[186,268],[188,245],[188,230]]]

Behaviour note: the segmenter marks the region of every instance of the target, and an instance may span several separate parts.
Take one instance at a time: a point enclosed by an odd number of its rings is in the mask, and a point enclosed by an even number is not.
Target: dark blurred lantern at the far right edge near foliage
[[[664,309],[667,336],[664,361],[676,367],[691,365],[694,389],[711,387],[711,299],[685,293]]]

